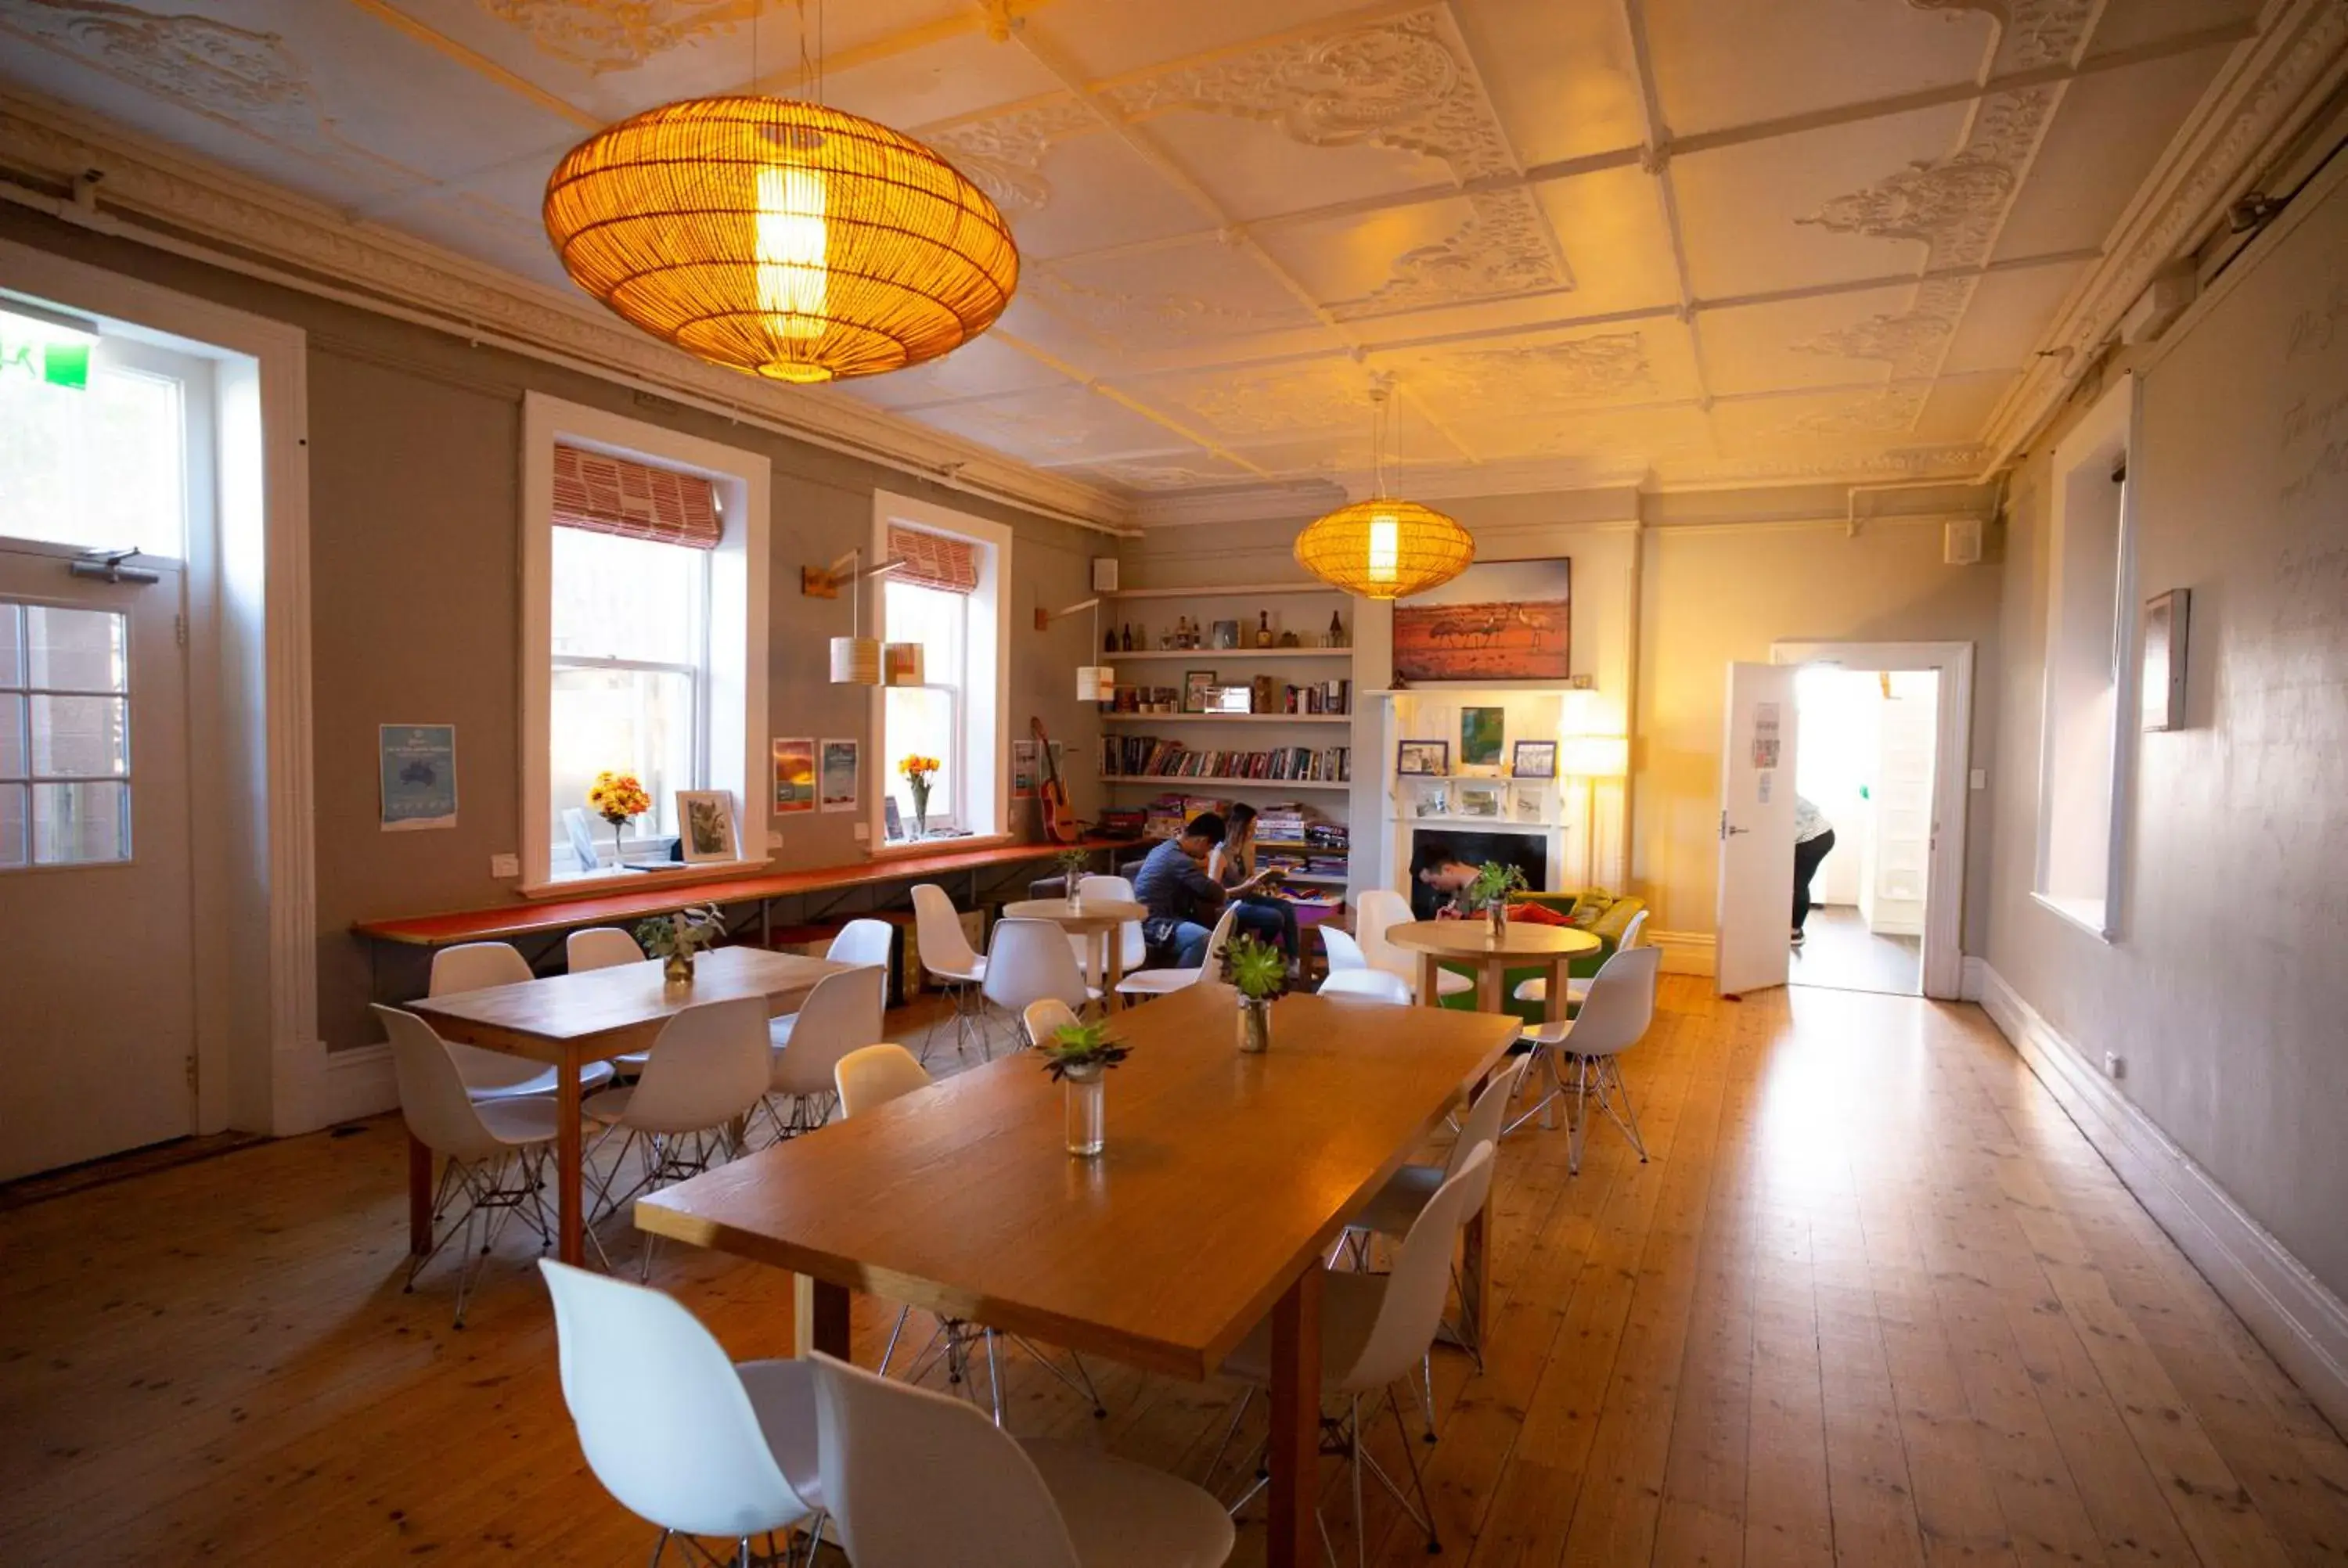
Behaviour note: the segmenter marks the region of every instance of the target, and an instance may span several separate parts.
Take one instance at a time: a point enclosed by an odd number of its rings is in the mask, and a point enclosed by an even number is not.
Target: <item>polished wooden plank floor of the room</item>
[[[1977,1009],[1667,979],[1627,1073],[1653,1162],[1503,1145],[1489,1361],[1437,1357],[1421,1446],[1446,1561],[2348,1561],[2339,1437]],[[399,1291],[402,1192],[376,1120],[0,1214],[0,1561],[643,1561],[531,1251],[453,1333],[446,1272]],[[772,1275],[655,1279],[777,1350]],[[859,1359],[885,1326],[859,1300]],[[1226,1390],[1097,1373],[1104,1422],[1017,1361],[1012,1425],[1202,1469]]]

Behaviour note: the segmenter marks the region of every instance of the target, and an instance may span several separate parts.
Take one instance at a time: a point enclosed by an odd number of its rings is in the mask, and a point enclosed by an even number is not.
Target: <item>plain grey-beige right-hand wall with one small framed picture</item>
[[[2017,477],[1989,962],[2348,1296],[2348,183],[2292,218],[2144,371],[2137,596],[2193,617],[2186,728],[2123,735],[2109,944],[2031,897],[2059,432]]]

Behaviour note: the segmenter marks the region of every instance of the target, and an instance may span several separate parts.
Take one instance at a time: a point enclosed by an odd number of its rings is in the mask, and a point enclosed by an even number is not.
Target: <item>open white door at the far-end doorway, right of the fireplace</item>
[[[1794,664],[1728,667],[1714,988],[1782,986],[1794,927]]]

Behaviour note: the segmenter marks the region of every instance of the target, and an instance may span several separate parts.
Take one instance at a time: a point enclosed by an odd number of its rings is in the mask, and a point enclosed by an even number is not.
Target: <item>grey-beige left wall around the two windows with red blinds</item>
[[[824,664],[824,638],[845,634],[848,606],[803,599],[798,568],[869,545],[876,488],[1012,523],[1012,732],[1024,735],[1026,721],[1040,714],[1075,756],[1087,756],[1099,735],[1099,721],[1073,699],[1082,634],[1033,631],[1038,603],[1057,608],[1089,592],[1089,556],[1111,547],[1099,533],[535,359],[470,347],[390,317],[63,228],[23,209],[0,207],[0,237],[310,333],[317,948],[319,1033],[329,1047],[378,1038],[366,1014],[371,995],[390,1000],[423,988],[418,953],[371,953],[350,934],[355,920],[517,897],[510,880],[488,876],[488,857],[519,850],[524,392],[610,408],[772,462],[772,732],[864,737],[866,791],[883,765],[866,735],[869,697],[862,688],[834,688]],[[378,829],[378,723],[456,723],[456,829]],[[763,737],[758,746],[763,751]],[[1097,807],[1080,793],[1078,810]],[[864,845],[852,838],[857,822],[862,812],[791,817],[782,824],[777,866],[862,859]],[[1014,824],[1024,826],[1021,817]]]

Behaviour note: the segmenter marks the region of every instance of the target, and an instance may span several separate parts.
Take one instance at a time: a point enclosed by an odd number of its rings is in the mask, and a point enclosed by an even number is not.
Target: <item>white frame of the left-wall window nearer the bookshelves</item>
[[[1012,707],[1012,530],[1005,523],[972,516],[970,512],[956,512],[953,507],[939,507],[937,502],[918,500],[913,495],[897,495],[895,491],[873,491],[873,530],[871,549],[866,552],[866,563],[888,561],[888,530],[890,523],[902,523],[906,528],[927,528],[930,533],[951,533],[956,538],[977,545],[972,552],[979,568],[979,587],[970,594],[967,622],[963,624],[963,699],[956,704],[958,730],[960,730],[960,758],[949,758],[949,765],[960,765],[963,777],[956,798],[960,807],[956,819],[970,831],[974,840],[1007,838],[1010,836],[1010,707]],[[871,592],[871,603],[866,603],[866,624],[873,627],[873,636],[888,638],[888,596],[876,589],[880,577],[862,584],[857,592]],[[993,636],[984,629],[993,627]],[[888,688],[876,685],[871,692],[871,749],[883,751],[888,746]],[[981,765],[972,765],[972,758],[981,758]],[[935,843],[888,843],[883,800],[885,768],[895,761],[885,756],[873,756],[866,768],[873,768],[873,779],[883,784],[871,791],[866,833],[873,845],[873,854],[920,854],[937,852]],[[960,843],[972,843],[965,838]]]

